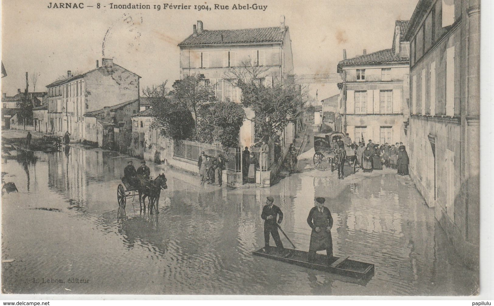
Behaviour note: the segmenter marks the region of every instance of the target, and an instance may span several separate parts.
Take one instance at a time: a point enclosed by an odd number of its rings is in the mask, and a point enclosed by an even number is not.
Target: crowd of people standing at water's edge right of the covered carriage
[[[396,169],[398,175],[408,175],[410,160],[403,142],[391,145],[386,142],[379,145],[369,139],[367,145],[364,142],[359,142],[358,145],[353,142],[352,148],[356,150],[359,165],[364,172],[381,170],[382,167],[386,167]]]

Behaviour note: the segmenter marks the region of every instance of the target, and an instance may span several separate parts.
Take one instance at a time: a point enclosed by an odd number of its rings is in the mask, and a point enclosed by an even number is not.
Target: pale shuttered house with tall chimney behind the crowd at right
[[[407,113],[409,42],[403,35],[408,20],[397,20],[393,45],[338,63],[342,73],[341,129],[353,141],[395,143],[405,140],[404,114]]]

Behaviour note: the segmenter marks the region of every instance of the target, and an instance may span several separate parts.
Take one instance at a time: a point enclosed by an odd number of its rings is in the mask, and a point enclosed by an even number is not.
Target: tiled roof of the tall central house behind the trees
[[[281,43],[285,39],[287,31],[288,27],[285,27],[285,30],[281,30],[280,27],[204,30],[197,37],[191,34],[178,45]]]

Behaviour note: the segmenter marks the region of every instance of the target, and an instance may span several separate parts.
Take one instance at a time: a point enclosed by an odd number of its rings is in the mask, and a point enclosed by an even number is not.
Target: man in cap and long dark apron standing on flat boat
[[[328,264],[333,257],[333,242],[331,239],[331,227],[333,218],[329,209],[324,206],[325,198],[316,198],[314,206],[307,217],[307,223],[312,228],[309,245],[309,262],[315,262],[316,252],[326,250]]]

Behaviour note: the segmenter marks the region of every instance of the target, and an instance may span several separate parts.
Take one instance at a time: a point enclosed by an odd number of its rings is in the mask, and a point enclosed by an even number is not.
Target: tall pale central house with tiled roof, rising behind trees
[[[278,27],[205,30],[198,20],[193,33],[178,44],[180,47],[180,78],[196,75],[206,84],[216,85],[220,100],[229,98],[240,103],[241,90],[232,86],[228,71],[246,63],[263,67],[267,84],[283,82],[293,74],[291,40],[285,17]]]

